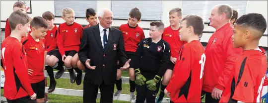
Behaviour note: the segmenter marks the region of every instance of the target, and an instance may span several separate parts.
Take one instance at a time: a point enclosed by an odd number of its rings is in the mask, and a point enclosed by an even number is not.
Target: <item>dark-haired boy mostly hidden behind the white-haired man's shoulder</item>
[[[86,9],[86,21],[88,22],[88,25],[85,26],[83,29],[96,25],[98,23],[97,19],[98,19],[98,16],[97,16],[96,10],[93,8],[87,8]],[[80,60],[78,60],[77,62],[77,67],[80,70],[83,70],[83,71],[85,70],[85,66],[81,63]]]

